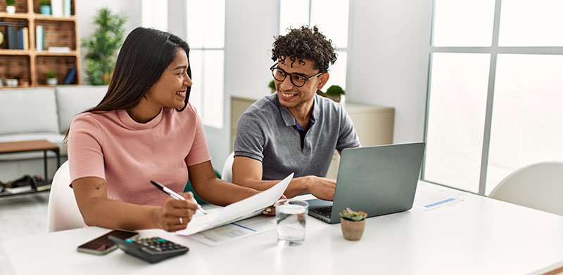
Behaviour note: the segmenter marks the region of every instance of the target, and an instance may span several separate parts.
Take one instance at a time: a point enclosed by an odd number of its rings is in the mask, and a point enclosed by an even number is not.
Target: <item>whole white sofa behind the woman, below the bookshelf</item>
[[[0,142],[49,140],[61,143],[74,116],[96,106],[107,86],[58,86],[53,88],[0,89]],[[48,152],[48,176],[56,171],[55,154]],[[0,181],[25,174],[44,174],[43,152],[0,154]]]

